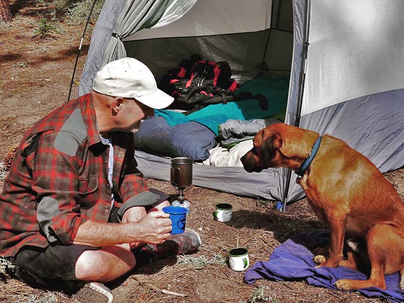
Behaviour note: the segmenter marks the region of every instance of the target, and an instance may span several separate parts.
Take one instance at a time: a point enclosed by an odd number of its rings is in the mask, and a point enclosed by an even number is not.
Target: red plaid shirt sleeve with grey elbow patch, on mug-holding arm
[[[78,193],[79,163],[82,157],[70,157],[54,147],[58,132],[46,132],[40,137],[34,169],[32,189],[36,194],[37,220],[49,242],[72,244],[79,226]],[[78,147],[76,156],[83,152]]]

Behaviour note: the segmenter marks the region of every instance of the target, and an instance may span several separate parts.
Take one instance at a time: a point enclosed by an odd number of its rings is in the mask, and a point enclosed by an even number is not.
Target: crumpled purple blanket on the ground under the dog
[[[259,261],[244,274],[244,281],[252,284],[259,279],[293,281],[305,279],[315,286],[337,289],[334,285],[339,279],[367,280],[367,276],[342,266],[337,268],[315,268],[311,250],[324,247],[329,235],[326,231],[305,232],[288,239],[277,247],[269,261]],[[380,297],[390,302],[404,301],[404,291],[398,287],[399,274],[386,275],[387,289],[368,287],[358,291],[367,297]]]

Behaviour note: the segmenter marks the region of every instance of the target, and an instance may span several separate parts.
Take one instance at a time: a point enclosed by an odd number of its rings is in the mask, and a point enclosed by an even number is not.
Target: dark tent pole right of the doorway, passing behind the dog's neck
[[[303,50],[303,56],[302,56],[302,64],[300,68],[300,75],[301,78],[299,80],[299,95],[298,95],[298,103],[297,103],[297,112],[295,116],[295,121],[294,121],[294,126],[299,127],[300,126],[300,118],[301,118],[301,107],[302,107],[302,102],[303,102],[303,92],[304,92],[304,87],[306,83],[306,68],[307,68],[307,54],[309,51],[309,34],[310,34],[310,13],[312,9],[312,1],[311,0],[306,0],[306,35],[305,35],[305,48]],[[286,204],[287,204],[287,197],[289,194],[289,187],[290,187],[290,179],[292,177],[292,170],[289,168],[287,171],[286,175],[286,186],[285,190],[283,193],[283,205],[282,205],[282,212],[286,212]]]

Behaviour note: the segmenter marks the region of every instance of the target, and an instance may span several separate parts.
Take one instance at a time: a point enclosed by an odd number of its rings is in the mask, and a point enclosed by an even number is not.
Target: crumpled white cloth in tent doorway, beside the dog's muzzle
[[[211,156],[203,163],[219,167],[243,167],[240,159],[252,148],[252,140],[246,140],[230,148],[215,147],[210,150]]]

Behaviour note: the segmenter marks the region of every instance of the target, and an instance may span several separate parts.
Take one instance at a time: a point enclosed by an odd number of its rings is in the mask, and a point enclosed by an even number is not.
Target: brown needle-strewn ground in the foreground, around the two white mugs
[[[404,172],[396,171],[394,174],[401,177]],[[150,187],[175,193],[169,182],[147,181]],[[268,260],[272,251],[292,235],[324,229],[324,224],[313,214],[306,200],[291,205],[286,213],[280,213],[268,201],[200,187],[187,191],[187,198],[192,203],[187,226],[201,236],[203,245],[199,251],[178,259],[145,264],[119,281],[110,283],[117,302],[243,303],[254,302],[254,297],[256,302],[383,302],[355,292],[313,287],[305,281],[259,280],[254,285],[248,285],[243,282],[242,272],[229,269],[225,260],[228,249],[232,247],[247,247],[252,265]],[[219,202],[233,205],[231,221],[220,223],[213,220],[214,206]],[[62,293],[33,289],[13,279],[0,282],[0,287],[0,302],[39,302],[39,299],[73,302]],[[259,300],[257,294],[260,293]]]

